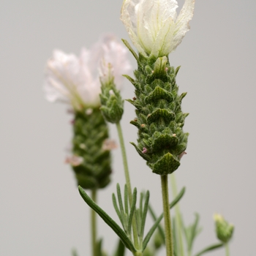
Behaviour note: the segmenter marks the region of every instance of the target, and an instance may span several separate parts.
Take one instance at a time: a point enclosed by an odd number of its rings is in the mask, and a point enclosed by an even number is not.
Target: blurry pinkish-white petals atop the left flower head
[[[75,110],[100,105],[99,69],[102,59],[111,63],[111,74],[120,85],[122,73],[130,69],[127,49],[110,35],[102,37],[90,50],[82,49],[80,56],[54,50],[46,69],[45,92],[50,102],[67,102]],[[100,75],[104,75],[100,69]]]

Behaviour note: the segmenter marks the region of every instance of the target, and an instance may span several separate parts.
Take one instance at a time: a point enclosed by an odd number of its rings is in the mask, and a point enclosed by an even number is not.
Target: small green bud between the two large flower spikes
[[[124,100],[121,99],[120,91],[116,89],[113,79],[102,82],[102,94],[99,94],[102,107],[102,115],[112,124],[121,120],[124,113]]]

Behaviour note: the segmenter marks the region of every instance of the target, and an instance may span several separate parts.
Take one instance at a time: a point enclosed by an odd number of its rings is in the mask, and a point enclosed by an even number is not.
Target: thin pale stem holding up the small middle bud
[[[118,138],[119,138],[119,141],[120,141],[121,154],[122,154],[122,157],[123,157],[124,176],[125,176],[125,181],[126,181],[126,184],[127,184],[129,206],[132,206],[132,187],[131,187],[131,182],[130,182],[130,179],[129,179],[129,169],[128,169],[128,163],[127,163],[127,153],[125,151],[124,137],[123,137],[123,133],[122,133],[122,130],[121,130],[120,122],[118,122],[116,124],[116,129],[117,129]],[[132,218],[132,233],[133,233],[133,239],[134,239],[135,248],[138,249],[139,248],[139,241],[138,241],[138,230],[137,230],[135,216]]]

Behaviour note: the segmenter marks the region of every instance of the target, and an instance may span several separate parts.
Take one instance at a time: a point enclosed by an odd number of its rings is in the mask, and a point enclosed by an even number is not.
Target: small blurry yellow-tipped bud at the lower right
[[[223,243],[227,243],[232,238],[234,226],[228,223],[220,214],[214,214],[217,238]]]

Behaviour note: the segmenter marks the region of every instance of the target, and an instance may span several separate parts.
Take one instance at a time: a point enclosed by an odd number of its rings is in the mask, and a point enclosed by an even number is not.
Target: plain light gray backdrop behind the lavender
[[[188,92],[183,110],[190,113],[184,126],[189,146],[176,177],[180,188],[187,187],[181,202],[187,224],[195,211],[201,216],[195,251],[217,241],[212,215],[219,212],[236,225],[231,255],[255,255],[255,8],[252,0],[197,0],[192,29],[170,55],[173,66],[181,65],[180,92]],[[66,256],[73,246],[80,256],[91,255],[89,208],[64,165],[71,116],[64,105],[45,101],[43,72],[54,48],[79,53],[106,31],[128,39],[120,10],[121,0],[0,0],[0,255]],[[124,98],[133,91],[126,82]],[[126,103],[125,110],[132,186],[151,189],[160,213],[159,176],[129,144],[137,130],[129,124],[134,108]],[[124,185],[119,150],[113,169],[99,204],[117,219],[110,198],[116,182]],[[99,225],[113,252],[116,237]]]

